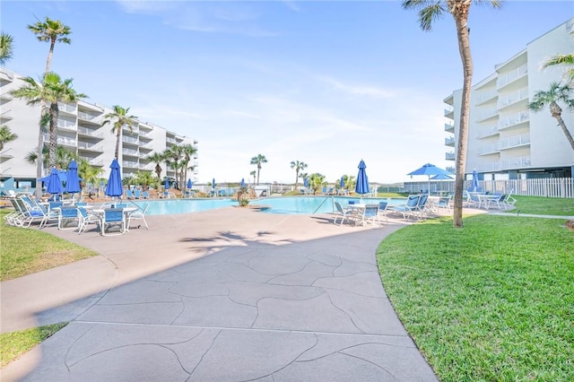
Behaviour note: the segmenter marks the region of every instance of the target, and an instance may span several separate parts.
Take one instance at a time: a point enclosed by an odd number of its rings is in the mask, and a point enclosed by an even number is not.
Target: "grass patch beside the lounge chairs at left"
[[[0,210],[3,218],[10,210]],[[0,281],[97,256],[96,252],[36,229],[23,229],[0,222]]]

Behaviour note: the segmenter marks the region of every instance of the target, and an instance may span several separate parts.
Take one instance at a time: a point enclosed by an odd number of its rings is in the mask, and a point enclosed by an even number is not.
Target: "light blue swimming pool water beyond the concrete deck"
[[[359,203],[358,197],[344,196],[285,196],[269,197],[265,199],[252,200],[250,204],[263,205],[269,208],[261,210],[263,213],[294,213],[294,214],[313,214],[313,213],[332,213],[333,201],[341,204],[349,204],[354,200]],[[402,204],[404,199],[390,198],[364,198],[363,203],[378,204],[379,202],[388,202],[389,204]],[[236,200],[232,199],[173,199],[173,200],[152,200],[134,202],[140,206],[149,203],[147,214],[149,215],[168,215],[174,213],[197,213],[200,211],[213,210],[230,205],[238,205]]]

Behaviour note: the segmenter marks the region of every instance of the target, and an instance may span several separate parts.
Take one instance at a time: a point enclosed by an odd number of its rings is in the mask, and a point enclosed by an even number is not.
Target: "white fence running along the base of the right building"
[[[465,180],[465,189],[471,187],[471,180]],[[483,191],[501,192],[503,194],[574,198],[574,178],[541,178],[541,179],[510,179],[510,180],[480,180],[479,186]],[[429,182],[405,182],[404,192],[418,193],[426,191]],[[431,193],[455,192],[455,181],[431,181]]]

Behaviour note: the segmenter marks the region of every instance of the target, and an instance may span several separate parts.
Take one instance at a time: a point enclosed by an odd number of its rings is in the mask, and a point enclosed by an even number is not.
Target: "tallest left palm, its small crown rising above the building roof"
[[[36,35],[39,41],[49,41],[50,48],[48,50],[48,58],[46,58],[46,71],[44,75],[48,75],[50,72],[50,65],[52,63],[52,56],[54,55],[54,47],[57,42],[62,42],[64,44],[70,44],[72,42],[68,36],[72,33],[70,27],[64,25],[64,23],[59,20],[50,20],[48,17],[45,18],[44,22],[36,22],[35,24],[28,25],[28,30]],[[44,147],[44,131],[46,129],[48,121],[48,110],[46,109],[46,103],[40,101],[39,106],[39,132],[38,132],[38,147],[36,152],[38,157],[42,155],[42,147]],[[43,161],[38,161],[36,164],[36,181],[42,178],[42,163]],[[36,187],[36,197],[40,198],[42,191],[39,187]]]

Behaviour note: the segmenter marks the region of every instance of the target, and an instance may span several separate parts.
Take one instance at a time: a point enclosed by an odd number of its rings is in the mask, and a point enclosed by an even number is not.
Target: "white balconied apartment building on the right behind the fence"
[[[545,59],[574,52],[574,19],[564,22],[476,83],[471,92],[465,174],[477,170],[480,180],[571,177],[574,151],[549,109],[527,109],[536,91],[547,91],[562,79],[563,68],[541,70]],[[447,161],[456,161],[462,90],[444,102]],[[561,105],[562,118],[574,135],[574,114]],[[451,168],[454,171],[454,167]]]

